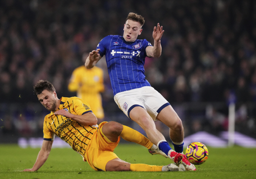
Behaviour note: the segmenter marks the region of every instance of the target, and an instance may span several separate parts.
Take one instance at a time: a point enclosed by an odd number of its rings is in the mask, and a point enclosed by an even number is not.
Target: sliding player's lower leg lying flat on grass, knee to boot
[[[160,172],[160,171],[185,171],[183,165],[177,166],[169,164],[166,166],[147,165],[147,164],[130,164],[119,158],[108,161],[106,171],[145,171],[145,172]]]

